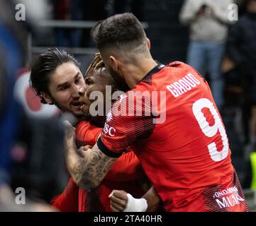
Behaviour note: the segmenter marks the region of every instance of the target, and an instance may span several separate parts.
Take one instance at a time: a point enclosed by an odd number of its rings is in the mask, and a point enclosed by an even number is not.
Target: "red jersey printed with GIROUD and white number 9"
[[[166,211],[248,210],[221,115],[191,66],[158,64],[114,103],[98,146],[118,157],[128,145]]]

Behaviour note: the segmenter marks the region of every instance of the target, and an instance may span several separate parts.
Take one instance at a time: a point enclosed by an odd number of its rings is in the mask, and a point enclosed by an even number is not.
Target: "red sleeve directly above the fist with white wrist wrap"
[[[126,182],[145,177],[145,172],[140,165],[138,157],[133,150],[123,153],[106,174],[105,179],[115,182]]]

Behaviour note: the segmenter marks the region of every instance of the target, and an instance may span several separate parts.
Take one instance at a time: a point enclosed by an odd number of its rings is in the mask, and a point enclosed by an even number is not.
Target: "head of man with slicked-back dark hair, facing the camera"
[[[84,78],[79,62],[67,52],[56,48],[40,54],[31,67],[30,86],[43,104],[83,117]]]

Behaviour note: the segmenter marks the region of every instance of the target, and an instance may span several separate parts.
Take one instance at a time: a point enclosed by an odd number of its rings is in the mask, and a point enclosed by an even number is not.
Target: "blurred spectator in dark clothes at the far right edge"
[[[245,143],[250,142],[250,118],[256,104],[256,1],[245,2],[246,13],[228,35],[227,54],[243,87],[242,119]]]

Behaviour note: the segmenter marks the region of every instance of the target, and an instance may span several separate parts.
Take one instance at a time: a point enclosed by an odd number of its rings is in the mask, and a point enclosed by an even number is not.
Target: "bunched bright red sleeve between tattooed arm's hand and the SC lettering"
[[[76,127],[76,138],[78,141],[94,145],[101,131],[101,128],[91,126],[89,121],[81,121]]]

